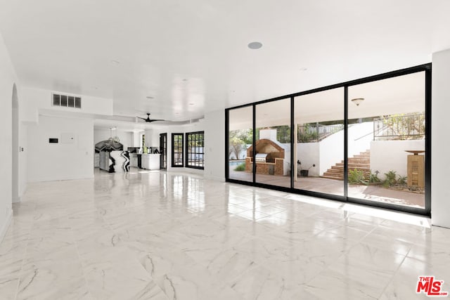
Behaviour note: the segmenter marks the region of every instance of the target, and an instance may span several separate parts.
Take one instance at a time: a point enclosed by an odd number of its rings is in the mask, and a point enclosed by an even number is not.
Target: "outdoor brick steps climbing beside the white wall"
[[[362,171],[364,176],[368,178],[371,174],[371,150],[366,150],[365,152],[359,153],[359,155],[349,157],[349,171],[354,169]],[[323,173],[321,177],[344,180],[344,161],[342,160],[335,164]]]

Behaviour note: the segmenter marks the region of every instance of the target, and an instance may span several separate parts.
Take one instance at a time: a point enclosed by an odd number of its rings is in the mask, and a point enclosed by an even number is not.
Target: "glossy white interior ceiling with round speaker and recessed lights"
[[[448,0],[0,0],[0,32],[23,86],[184,121],[429,63],[450,48],[449,13]]]

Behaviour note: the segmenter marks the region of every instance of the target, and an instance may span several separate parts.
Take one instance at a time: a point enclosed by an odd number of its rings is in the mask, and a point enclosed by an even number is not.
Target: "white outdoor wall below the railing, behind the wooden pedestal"
[[[371,170],[379,171],[378,177],[385,178],[389,171],[407,176],[407,159],[412,155],[405,150],[425,150],[425,140],[371,141]]]

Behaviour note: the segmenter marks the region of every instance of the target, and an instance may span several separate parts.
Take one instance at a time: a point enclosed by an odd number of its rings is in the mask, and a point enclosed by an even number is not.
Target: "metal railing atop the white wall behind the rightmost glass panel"
[[[416,140],[425,137],[425,114],[390,115],[373,119],[374,140]]]

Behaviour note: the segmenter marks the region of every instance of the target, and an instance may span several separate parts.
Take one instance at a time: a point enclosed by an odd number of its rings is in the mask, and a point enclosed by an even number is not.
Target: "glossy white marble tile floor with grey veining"
[[[429,299],[450,292],[430,220],[160,171],[28,185],[0,299]]]

